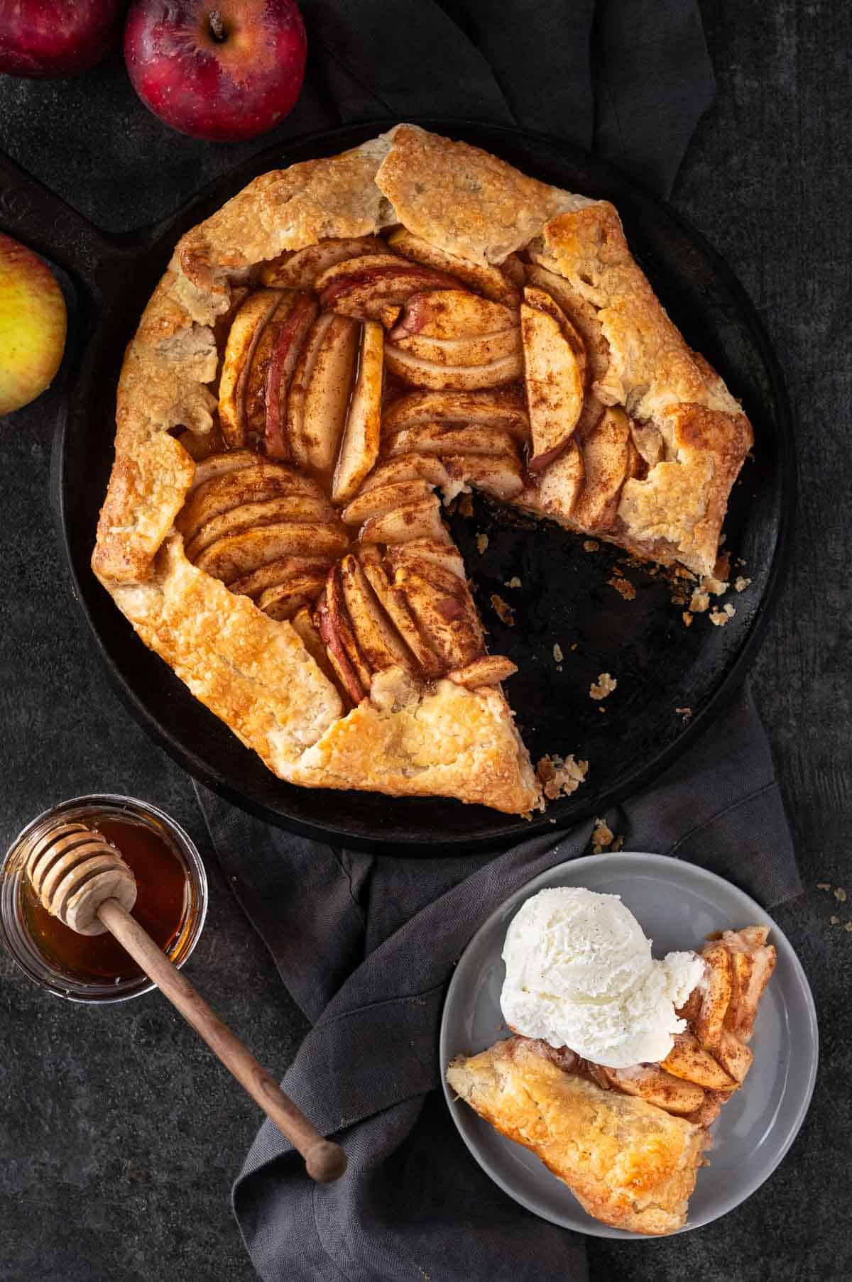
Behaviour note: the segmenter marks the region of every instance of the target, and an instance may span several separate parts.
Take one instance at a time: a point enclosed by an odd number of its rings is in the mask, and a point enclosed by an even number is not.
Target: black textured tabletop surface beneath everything
[[[719,94],[674,204],[749,291],[798,417],[794,558],[754,694],[806,886],[778,918],[814,986],[822,1058],[792,1153],[746,1205],[674,1241],[592,1240],[592,1276],[816,1282],[852,1276],[852,18],[840,0],[702,9]],[[300,110],[280,136],[305,128]],[[0,145],[110,229],[159,218],[271,141],[223,147],[169,132],[118,58],[78,82],[0,76]],[[108,788],[164,806],[204,851],[189,779],[124,713],[74,614],[47,501],[55,405],[49,392],[0,423],[0,844],[51,801]],[[208,927],[187,974],[284,1073],[303,1018],[212,858],[208,869]],[[849,901],[817,882],[848,882]],[[227,1194],[254,1106],[157,995],[89,1010],[42,995],[5,956],[0,977],[0,1279],[250,1282]]]

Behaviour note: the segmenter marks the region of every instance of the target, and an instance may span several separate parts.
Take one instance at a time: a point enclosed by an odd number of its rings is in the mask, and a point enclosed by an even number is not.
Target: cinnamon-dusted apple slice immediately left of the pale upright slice
[[[302,410],[302,442],[308,467],[323,474],[331,470],[337,458],[359,338],[357,320],[332,315],[311,370]]]

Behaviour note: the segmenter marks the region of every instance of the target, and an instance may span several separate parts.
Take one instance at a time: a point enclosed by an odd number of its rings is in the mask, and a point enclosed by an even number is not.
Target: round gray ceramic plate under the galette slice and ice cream
[[[770,942],[778,949],[778,967],[761,1000],[752,1041],[754,1064],[713,1128],[711,1164],[698,1174],[689,1220],[681,1232],[710,1224],[769,1178],[805,1119],[816,1076],[817,1029],[801,963],[785,935],[753,899],[703,868],[665,855],[622,851],[559,864],[527,882],[480,927],[456,968],[441,1019],[440,1061],[447,1104],[467,1147],[509,1197],[577,1233],[645,1241],[586,1215],[538,1158],[454,1100],[443,1072],[453,1056],[485,1050],[498,1037],[507,1036],[499,1004],[503,937],[524,900],[544,886],[586,886],[621,895],[653,940],[654,956],[671,949],[694,947],[712,931],[754,923],[771,926]]]

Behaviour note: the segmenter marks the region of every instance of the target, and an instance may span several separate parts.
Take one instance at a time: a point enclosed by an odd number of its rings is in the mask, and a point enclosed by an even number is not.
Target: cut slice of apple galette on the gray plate
[[[658,1064],[606,1068],[567,1047],[509,1037],[459,1058],[447,1079],[502,1135],[530,1149],[584,1210],[634,1233],[686,1222],[708,1127],[752,1065],[757,1005],[775,969],[769,929],[725,931]]]

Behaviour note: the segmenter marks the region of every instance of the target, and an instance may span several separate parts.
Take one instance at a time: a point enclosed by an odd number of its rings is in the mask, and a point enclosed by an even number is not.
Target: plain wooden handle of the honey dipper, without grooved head
[[[139,922],[115,899],[98,909],[104,926],[130,953],[142,970],[177,1006],[187,1023],[204,1038],[214,1055],[228,1068],[269,1120],[302,1154],[308,1174],[320,1183],[337,1179],[346,1169],[346,1155],[339,1144],[325,1140],[304,1113],[289,1099],[271,1073],[258,1064],[240,1038],[223,1024],[214,1010],[181,972],[172,965]]]

